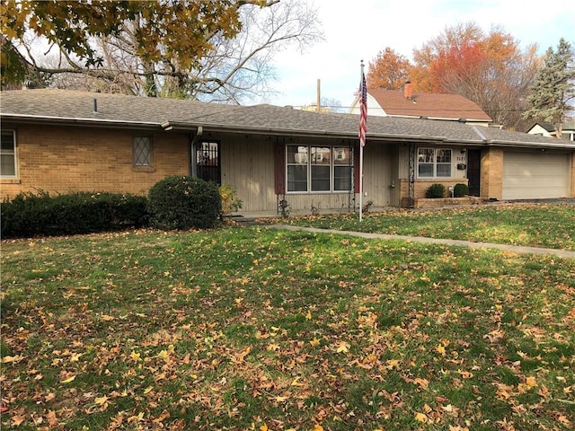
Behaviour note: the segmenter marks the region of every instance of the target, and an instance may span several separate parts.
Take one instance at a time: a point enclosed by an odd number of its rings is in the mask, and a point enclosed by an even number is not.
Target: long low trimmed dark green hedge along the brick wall
[[[74,235],[142,227],[146,197],[80,192],[50,196],[20,193],[2,203],[2,238]]]

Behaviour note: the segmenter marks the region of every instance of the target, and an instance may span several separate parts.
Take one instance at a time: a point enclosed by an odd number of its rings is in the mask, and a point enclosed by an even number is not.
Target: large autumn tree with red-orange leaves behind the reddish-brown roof
[[[496,123],[525,128],[522,112],[540,58],[536,46],[522,51],[498,27],[485,33],[474,22],[447,28],[413,51],[411,81],[416,91],[461,94]]]

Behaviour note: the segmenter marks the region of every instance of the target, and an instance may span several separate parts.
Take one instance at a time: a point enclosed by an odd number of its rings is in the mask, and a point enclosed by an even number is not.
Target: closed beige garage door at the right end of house
[[[503,199],[565,198],[568,189],[567,154],[503,154]]]

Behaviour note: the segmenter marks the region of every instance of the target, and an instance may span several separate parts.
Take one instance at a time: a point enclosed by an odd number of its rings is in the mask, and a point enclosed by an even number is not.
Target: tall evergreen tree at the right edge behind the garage
[[[575,99],[575,66],[569,42],[562,38],[556,51],[547,49],[544,65],[531,90],[527,97],[530,108],[524,118],[553,123],[556,136],[561,138],[563,120],[573,110],[570,101]]]

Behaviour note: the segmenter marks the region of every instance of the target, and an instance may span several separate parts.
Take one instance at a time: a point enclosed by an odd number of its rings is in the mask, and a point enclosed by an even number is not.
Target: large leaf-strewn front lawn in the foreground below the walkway
[[[6,429],[575,423],[575,259],[227,226],[1,263]]]

